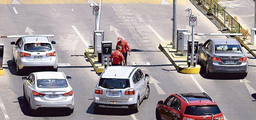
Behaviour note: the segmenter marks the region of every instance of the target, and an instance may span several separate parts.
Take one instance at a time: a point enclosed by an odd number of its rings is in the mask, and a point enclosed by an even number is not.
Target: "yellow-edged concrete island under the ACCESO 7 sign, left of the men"
[[[98,62],[98,57],[93,54],[93,48],[86,49],[85,54],[96,73],[98,74],[100,72],[103,72],[105,66],[101,66],[101,63]]]

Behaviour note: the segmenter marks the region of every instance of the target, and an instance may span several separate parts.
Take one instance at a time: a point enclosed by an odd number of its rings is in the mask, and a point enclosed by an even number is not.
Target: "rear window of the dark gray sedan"
[[[215,45],[215,53],[242,53],[239,45]]]

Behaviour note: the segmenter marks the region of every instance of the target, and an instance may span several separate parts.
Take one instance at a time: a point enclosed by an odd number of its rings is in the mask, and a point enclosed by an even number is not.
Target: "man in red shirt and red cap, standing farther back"
[[[123,40],[123,38],[121,36],[119,36],[119,37],[117,37],[116,46],[121,46],[122,47],[121,53],[124,55],[125,65],[127,65],[127,48],[128,48],[128,51],[129,51],[129,55],[131,55],[131,49],[130,49],[130,46],[129,46],[128,42]]]

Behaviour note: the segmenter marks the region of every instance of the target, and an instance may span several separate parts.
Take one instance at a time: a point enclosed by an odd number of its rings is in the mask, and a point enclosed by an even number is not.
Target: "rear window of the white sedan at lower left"
[[[66,88],[66,79],[37,79],[38,88]]]

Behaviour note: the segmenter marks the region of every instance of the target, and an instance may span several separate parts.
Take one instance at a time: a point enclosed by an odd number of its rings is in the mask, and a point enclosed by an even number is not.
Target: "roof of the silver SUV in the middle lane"
[[[103,71],[101,78],[128,79],[136,68],[131,66],[109,66]]]

